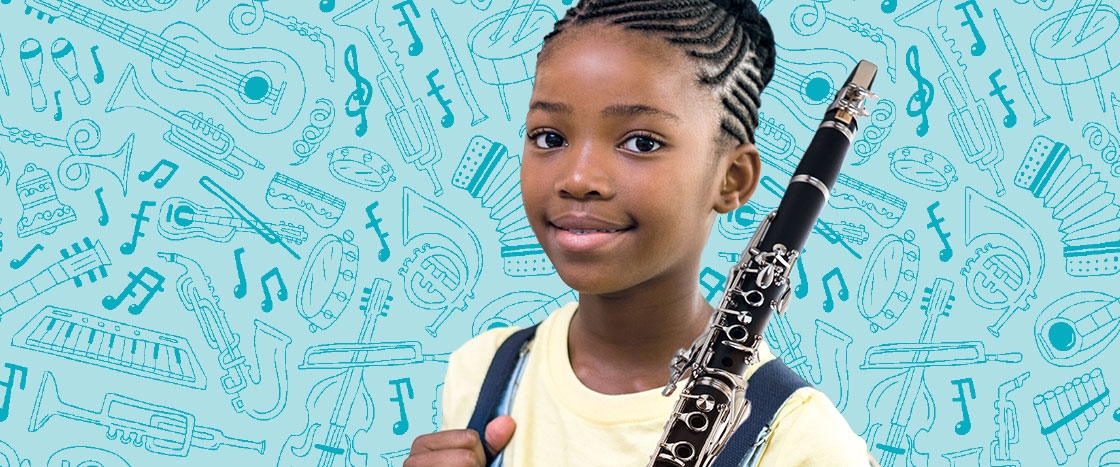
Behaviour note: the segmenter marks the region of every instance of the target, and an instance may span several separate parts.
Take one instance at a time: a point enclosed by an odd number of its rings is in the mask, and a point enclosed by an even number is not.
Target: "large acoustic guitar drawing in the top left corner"
[[[251,131],[283,130],[304,106],[304,73],[274,48],[225,48],[181,21],[156,35],[71,0],[25,2],[27,13],[37,10],[47,22],[65,17],[148,55],[160,84],[209,94]]]

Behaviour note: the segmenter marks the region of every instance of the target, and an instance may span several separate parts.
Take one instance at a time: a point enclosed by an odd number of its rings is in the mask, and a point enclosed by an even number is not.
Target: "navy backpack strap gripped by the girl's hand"
[[[539,325],[539,324],[538,324]],[[483,441],[483,452],[486,454],[486,465],[494,461],[494,456],[486,446],[486,424],[497,417],[497,407],[505,395],[505,387],[513,374],[513,368],[517,364],[522,346],[536,334],[536,326],[513,333],[502,343],[491,359],[489,370],[486,371],[486,379],[478,390],[478,402],[475,403],[475,412],[470,415],[467,428],[478,432],[478,439]]]

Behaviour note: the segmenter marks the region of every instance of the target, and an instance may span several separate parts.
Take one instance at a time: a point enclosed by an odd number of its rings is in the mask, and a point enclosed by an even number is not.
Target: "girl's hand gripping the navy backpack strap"
[[[496,456],[513,438],[517,423],[510,415],[500,415],[486,424],[486,445]],[[404,467],[487,467],[478,432],[472,429],[447,430],[421,435],[412,441]]]

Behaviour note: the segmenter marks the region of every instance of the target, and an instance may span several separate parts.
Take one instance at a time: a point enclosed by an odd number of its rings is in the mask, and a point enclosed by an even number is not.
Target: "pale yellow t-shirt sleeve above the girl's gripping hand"
[[[444,377],[440,395],[444,413],[440,430],[467,428],[491,359],[502,343],[517,329],[503,327],[487,330],[451,353],[447,361],[447,375]]]

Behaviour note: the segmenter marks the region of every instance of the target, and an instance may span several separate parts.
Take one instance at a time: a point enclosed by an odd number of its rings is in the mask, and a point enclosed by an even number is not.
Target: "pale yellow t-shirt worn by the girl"
[[[680,392],[668,398],[661,387],[603,394],[585,386],[568,359],[568,325],[577,305],[564,305],[536,329],[510,412],[517,428],[503,455],[505,467],[644,466],[661,439]],[[444,430],[467,427],[491,359],[516,330],[491,329],[451,354],[442,390]],[[763,343],[759,362],[746,376],[773,358]],[[772,429],[757,467],[878,466],[832,401],[813,387],[794,392]]]

